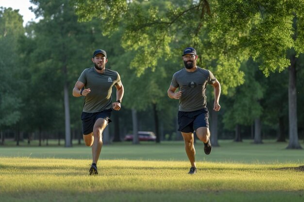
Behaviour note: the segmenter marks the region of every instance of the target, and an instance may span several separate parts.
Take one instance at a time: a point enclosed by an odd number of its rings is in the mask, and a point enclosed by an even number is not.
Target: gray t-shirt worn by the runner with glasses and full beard
[[[196,111],[206,108],[206,86],[212,85],[216,78],[206,69],[198,67],[195,72],[187,72],[185,68],[173,75],[171,86],[182,91],[179,100],[180,111]]]

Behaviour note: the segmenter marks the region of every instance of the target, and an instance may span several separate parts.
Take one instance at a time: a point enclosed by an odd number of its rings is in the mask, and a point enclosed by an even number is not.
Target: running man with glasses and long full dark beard
[[[173,75],[168,96],[179,99],[178,131],[181,131],[185,140],[185,149],[191,168],[188,174],[197,172],[195,165],[194,135],[203,141],[204,152],[209,155],[212,150],[209,131],[209,112],[206,107],[206,86],[214,88],[215,111],[220,110],[220,83],[214,75],[206,69],[196,65],[198,56],[193,47],[187,47],[182,55],[185,68]],[[176,89],[179,88],[178,91]],[[176,92],[175,92],[176,91]]]

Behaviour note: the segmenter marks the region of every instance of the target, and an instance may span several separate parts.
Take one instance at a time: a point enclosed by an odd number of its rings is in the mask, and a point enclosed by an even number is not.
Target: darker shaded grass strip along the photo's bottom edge
[[[5,193],[1,202],[303,202],[300,191],[233,191],[233,190],[48,190],[28,193]]]

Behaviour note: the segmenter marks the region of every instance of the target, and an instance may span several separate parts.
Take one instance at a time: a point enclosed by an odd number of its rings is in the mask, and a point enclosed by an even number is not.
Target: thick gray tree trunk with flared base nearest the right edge
[[[302,149],[298,139],[298,119],[297,119],[297,72],[296,57],[292,56],[290,60],[289,85],[288,85],[288,110],[289,110],[289,144],[286,149]]]

